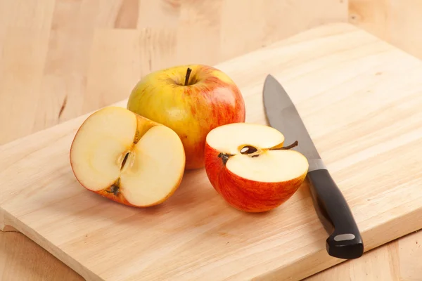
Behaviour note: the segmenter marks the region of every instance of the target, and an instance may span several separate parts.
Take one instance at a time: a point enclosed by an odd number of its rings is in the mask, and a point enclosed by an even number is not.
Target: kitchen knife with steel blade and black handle
[[[269,125],[283,133],[287,145],[298,141],[293,149],[308,159],[307,178],[312,201],[329,234],[326,240],[328,254],[340,259],[359,258],[364,252],[364,244],[345,197],[326,169],[288,93],[271,75],[265,79],[263,98]]]

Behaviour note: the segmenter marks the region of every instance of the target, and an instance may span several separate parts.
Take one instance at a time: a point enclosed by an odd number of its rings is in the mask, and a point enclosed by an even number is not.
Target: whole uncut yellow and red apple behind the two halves
[[[186,71],[191,68],[188,86]],[[207,65],[181,65],[143,77],[127,109],[173,129],[186,152],[186,169],[205,166],[207,133],[217,126],[245,122],[245,103],[234,81]]]

